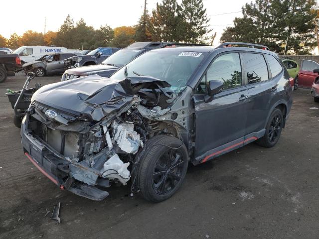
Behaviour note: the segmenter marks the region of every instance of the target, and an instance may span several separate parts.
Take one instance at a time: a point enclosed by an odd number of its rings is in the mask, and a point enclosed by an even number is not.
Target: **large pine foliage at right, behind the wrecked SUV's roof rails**
[[[264,44],[284,53],[287,37],[290,54],[309,54],[316,44],[315,0],[255,0],[242,7],[233,27],[224,30],[220,41]],[[304,43],[305,46],[301,46]]]

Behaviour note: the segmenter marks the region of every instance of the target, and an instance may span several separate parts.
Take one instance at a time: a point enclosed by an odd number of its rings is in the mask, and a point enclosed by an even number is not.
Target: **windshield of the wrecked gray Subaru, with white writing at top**
[[[169,91],[178,93],[203,60],[204,53],[181,51],[149,51],[137,57],[127,66],[122,67],[110,78],[125,79],[125,69],[128,78],[136,76],[152,76],[168,82]]]

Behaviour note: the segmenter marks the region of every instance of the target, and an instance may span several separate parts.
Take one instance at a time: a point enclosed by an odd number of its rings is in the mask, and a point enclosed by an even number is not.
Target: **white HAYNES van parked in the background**
[[[12,54],[19,54],[21,63],[35,61],[40,57],[50,53],[70,52],[65,47],[55,46],[21,46]]]

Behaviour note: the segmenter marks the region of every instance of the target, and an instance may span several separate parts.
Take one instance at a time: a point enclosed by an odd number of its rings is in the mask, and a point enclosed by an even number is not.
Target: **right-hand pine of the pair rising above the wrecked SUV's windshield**
[[[209,18],[202,0],[182,0],[182,15],[186,21],[185,42],[197,43],[207,40]]]

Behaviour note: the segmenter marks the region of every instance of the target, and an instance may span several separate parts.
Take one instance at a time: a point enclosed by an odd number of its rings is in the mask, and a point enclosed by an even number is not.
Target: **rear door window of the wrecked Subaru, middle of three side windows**
[[[244,53],[243,61],[246,66],[248,84],[269,79],[267,65],[262,54]]]

